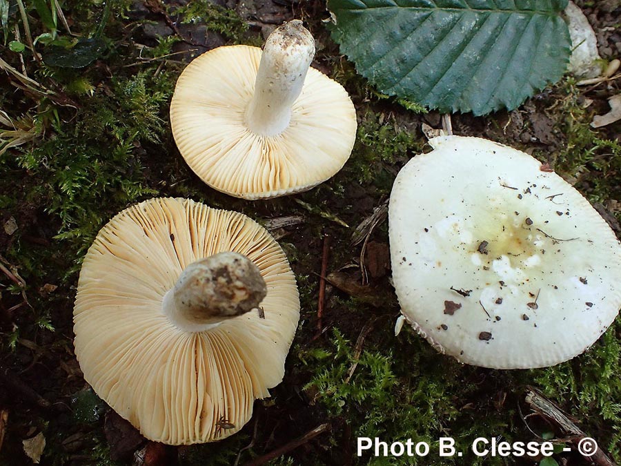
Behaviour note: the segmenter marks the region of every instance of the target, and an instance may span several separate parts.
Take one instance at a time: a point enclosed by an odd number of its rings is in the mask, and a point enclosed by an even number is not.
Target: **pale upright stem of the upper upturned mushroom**
[[[253,133],[273,136],[289,125],[291,106],[302,92],[314,56],[315,39],[299,19],[284,23],[269,35],[257,71],[255,95],[246,111],[246,124]]]

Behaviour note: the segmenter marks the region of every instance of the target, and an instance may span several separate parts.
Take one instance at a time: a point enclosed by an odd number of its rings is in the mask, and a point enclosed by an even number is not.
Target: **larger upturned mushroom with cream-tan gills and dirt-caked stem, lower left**
[[[99,231],[80,272],[75,353],[97,394],[150,440],[209,442],[284,376],[299,320],[286,256],[240,213],[152,199]]]

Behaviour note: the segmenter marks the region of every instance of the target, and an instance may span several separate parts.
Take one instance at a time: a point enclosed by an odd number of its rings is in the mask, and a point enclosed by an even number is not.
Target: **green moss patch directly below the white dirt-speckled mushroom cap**
[[[527,385],[562,400],[562,407],[578,418],[582,429],[591,435],[597,432],[600,445],[619,458],[621,326],[610,329],[593,349],[572,362],[531,371],[494,371],[441,356],[410,329],[393,339],[391,324],[378,329],[380,340],[365,340],[358,360],[355,344],[336,329],[328,347],[297,351],[299,361],[314,368],[305,387],[309,396],[330,416],[351,426],[351,438],[335,434],[336,443],[377,436],[388,444],[411,438],[431,445],[431,453],[424,458],[366,455],[356,464],[505,464],[502,458],[475,457],[471,443],[477,437],[495,436],[528,440],[533,438],[529,428],[544,434],[539,427],[526,427],[517,411],[517,405],[524,406]],[[443,436],[455,438],[457,451],[464,452],[462,458],[437,455],[437,439]]]

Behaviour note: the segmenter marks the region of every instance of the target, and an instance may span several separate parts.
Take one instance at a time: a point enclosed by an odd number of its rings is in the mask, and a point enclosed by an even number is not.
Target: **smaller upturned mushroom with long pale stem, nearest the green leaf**
[[[340,84],[309,68],[314,55],[313,36],[293,20],[270,34],[263,52],[215,48],[181,73],[172,135],[206,184],[253,200],[306,191],[342,168],[355,110]]]

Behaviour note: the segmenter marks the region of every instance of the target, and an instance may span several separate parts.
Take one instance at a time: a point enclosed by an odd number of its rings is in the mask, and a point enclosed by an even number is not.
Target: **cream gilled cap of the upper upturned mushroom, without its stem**
[[[306,191],[347,162],[356,136],[346,90],[310,68],[289,126],[275,136],[245,124],[262,50],[218,47],[181,73],[170,104],[172,135],[192,170],[209,186],[248,200]]]

